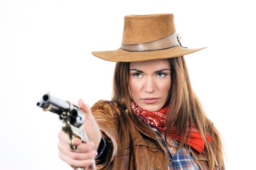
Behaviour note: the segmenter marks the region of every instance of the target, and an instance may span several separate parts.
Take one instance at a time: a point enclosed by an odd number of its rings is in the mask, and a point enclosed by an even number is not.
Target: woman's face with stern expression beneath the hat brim
[[[167,59],[130,62],[129,92],[142,109],[158,111],[168,99],[171,66]]]

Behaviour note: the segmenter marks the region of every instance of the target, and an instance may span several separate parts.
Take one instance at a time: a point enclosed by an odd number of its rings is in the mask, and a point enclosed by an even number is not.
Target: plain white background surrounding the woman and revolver
[[[0,0],[0,169],[71,169],[58,157],[58,116],[36,102],[48,91],[90,106],[110,99],[115,63],[91,51],[119,48],[125,15],[153,13],[174,13],[183,46],[208,46],[185,57],[192,87],[223,136],[226,168],[255,168],[251,2]]]

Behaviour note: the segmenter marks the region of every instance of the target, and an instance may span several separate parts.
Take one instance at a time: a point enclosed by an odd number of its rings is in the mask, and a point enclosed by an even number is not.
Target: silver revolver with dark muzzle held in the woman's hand
[[[36,105],[43,108],[44,111],[50,111],[59,116],[59,119],[63,121],[62,130],[70,137],[70,148],[72,150],[77,149],[74,146],[74,136],[79,137],[83,142],[89,141],[88,135],[83,128],[85,114],[78,106],[68,101],[57,99],[49,95],[49,93],[43,95],[43,98]],[[92,162],[92,165],[88,168],[76,167],[76,170],[96,170],[94,158],[92,158]]]

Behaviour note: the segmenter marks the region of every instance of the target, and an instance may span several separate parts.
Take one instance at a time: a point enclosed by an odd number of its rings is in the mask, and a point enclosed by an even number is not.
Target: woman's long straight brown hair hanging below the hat
[[[171,89],[168,100],[169,108],[166,116],[167,130],[164,134],[165,141],[167,141],[166,135],[171,131],[173,126],[175,126],[176,135],[180,135],[182,137],[179,147],[184,146],[187,137],[187,124],[190,123],[191,126],[195,124],[205,141],[204,150],[209,161],[209,170],[213,170],[214,168],[214,156],[216,157],[219,169],[222,169],[223,147],[220,134],[204,113],[198,97],[191,88],[184,57],[170,58],[168,61],[171,66]],[[129,62],[117,62],[115,66],[111,101],[117,103],[121,109],[123,116],[121,116],[120,119],[123,119],[123,122],[132,121],[136,126],[143,129],[144,132],[152,133],[152,130],[146,124],[141,124],[141,121],[131,110],[130,102],[132,98],[130,97],[128,87],[129,67]],[[127,112],[124,111],[126,109],[128,110]],[[125,126],[127,125],[128,124]],[[122,126],[124,127],[124,125]],[[128,130],[129,127],[125,127],[121,129],[119,133],[129,134]],[[213,137],[213,140],[210,143],[207,141],[206,134]]]

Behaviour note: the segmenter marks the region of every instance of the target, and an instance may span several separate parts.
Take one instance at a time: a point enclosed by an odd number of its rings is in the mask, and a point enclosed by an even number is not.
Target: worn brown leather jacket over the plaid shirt
[[[155,135],[145,134],[135,124],[128,125],[129,137],[119,134],[117,124],[121,116],[116,103],[105,101],[94,104],[92,114],[96,119],[107,147],[99,159],[96,160],[97,169],[102,170],[167,170],[167,158]],[[127,122],[121,122],[127,124]],[[120,142],[125,140],[127,142]],[[191,150],[193,152],[193,150]],[[207,158],[202,152],[192,153],[200,170],[208,170]],[[216,162],[215,170],[218,170]]]

